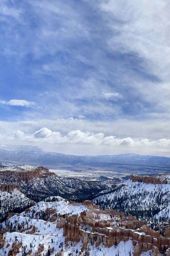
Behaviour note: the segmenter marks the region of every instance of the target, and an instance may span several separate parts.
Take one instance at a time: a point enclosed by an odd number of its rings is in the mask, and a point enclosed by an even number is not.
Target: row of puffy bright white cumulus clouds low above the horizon
[[[68,145],[91,145],[91,146],[114,146],[124,148],[162,148],[168,149],[170,147],[170,139],[139,139],[139,138],[117,138],[114,135],[105,136],[104,133],[93,133],[89,131],[72,130],[66,135],[60,132],[52,131],[46,127],[34,132],[33,134],[25,134],[23,131],[13,131],[8,139],[20,139],[21,141],[35,142],[35,143],[49,143],[49,144],[68,144]]]

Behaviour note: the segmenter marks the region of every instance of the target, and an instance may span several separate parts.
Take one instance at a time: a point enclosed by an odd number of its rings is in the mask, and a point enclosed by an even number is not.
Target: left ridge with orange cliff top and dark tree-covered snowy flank
[[[81,201],[108,189],[99,181],[60,177],[42,166],[9,165],[0,169],[0,183],[16,184],[22,193],[39,202],[49,196],[62,196]]]

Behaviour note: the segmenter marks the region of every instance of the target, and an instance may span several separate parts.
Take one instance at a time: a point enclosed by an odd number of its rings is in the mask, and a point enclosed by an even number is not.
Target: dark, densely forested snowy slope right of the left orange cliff
[[[29,182],[22,181],[20,186],[24,194],[37,202],[49,196],[61,196],[72,201],[82,201],[108,188],[108,185],[100,182],[64,178],[55,174],[33,178]]]

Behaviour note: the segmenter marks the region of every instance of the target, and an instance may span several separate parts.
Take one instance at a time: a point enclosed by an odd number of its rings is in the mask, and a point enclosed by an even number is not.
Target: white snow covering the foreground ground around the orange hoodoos
[[[69,213],[69,214],[80,214],[82,211],[89,209],[84,205],[73,205],[69,204],[68,201],[64,200],[61,197],[51,197],[47,198],[46,201],[49,200],[58,200],[57,202],[39,202],[35,204],[34,206],[30,207],[31,212],[27,213],[25,216],[25,212],[22,212],[21,215],[15,214],[9,220],[6,222],[3,222],[3,227],[10,227],[11,229],[16,229],[16,231],[22,231],[23,228],[27,229],[20,232],[7,232],[5,234],[5,248],[6,245],[9,244],[9,247],[6,248],[6,252],[8,255],[9,249],[11,249],[12,243],[17,239],[18,242],[22,242],[23,246],[26,248],[26,252],[30,250],[30,244],[32,247],[32,254],[33,255],[39,247],[39,244],[44,244],[44,255],[48,251],[48,247],[50,245],[50,248],[54,247],[54,252],[51,253],[51,255],[55,255],[57,252],[60,251],[61,245],[63,245],[63,256],[67,256],[68,253],[72,253],[73,256],[77,256],[76,249],[79,251],[82,248],[82,242],[80,239],[80,242],[73,243],[68,242],[68,247],[65,247],[65,237],[63,237],[63,228],[56,228],[56,222],[51,223],[47,221],[43,221],[41,219],[35,219],[36,212],[40,210],[46,210],[47,208],[50,209],[56,209],[57,213],[63,214],[63,213]],[[30,218],[29,217],[32,217]],[[107,215],[102,214],[101,217],[104,219],[107,219]],[[109,216],[110,218],[110,216]],[[22,227],[20,226],[22,225]],[[36,231],[34,234],[26,234],[26,232],[29,232],[32,230],[32,225],[36,227]],[[81,229],[85,230],[86,232],[92,232],[92,227],[89,225],[81,225]],[[20,230],[19,230],[20,229]],[[12,231],[12,230],[11,230]],[[52,243],[53,241],[53,243]],[[62,243],[62,244],[61,244]],[[20,252],[17,254],[18,256],[22,256],[22,247],[20,248]],[[96,256],[111,256],[115,255],[119,251],[120,256],[129,256],[129,252],[133,252],[133,245],[132,241],[129,240],[127,242],[120,242],[118,246],[111,246],[103,247],[102,244],[100,244],[97,248],[91,245],[90,241],[88,243],[87,251],[90,252],[90,255],[96,255]],[[2,254],[2,249],[0,249],[0,255]]]

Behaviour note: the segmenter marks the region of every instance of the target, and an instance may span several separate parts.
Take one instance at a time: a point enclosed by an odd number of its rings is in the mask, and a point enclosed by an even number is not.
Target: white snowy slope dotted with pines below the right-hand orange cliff
[[[166,175],[166,181],[169,176]],[[164,178],[165,175],[162,181]],[[156,218],[159,222],[166,221],[170,215],[170,184],[146,184],[129,179],[118,184],[114,192],[99,196],[93,202],[102,208],[124,211],[126,215],[132,214],[143,220],[153,222]]]

